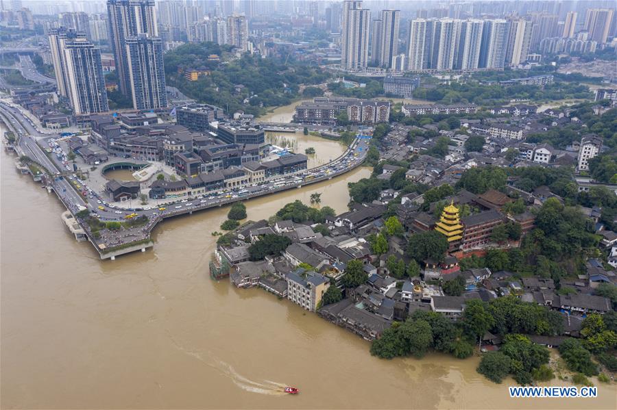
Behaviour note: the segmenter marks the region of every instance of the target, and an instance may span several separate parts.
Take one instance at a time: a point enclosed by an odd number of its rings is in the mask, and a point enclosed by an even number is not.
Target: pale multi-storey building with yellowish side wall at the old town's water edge
[[[306,310],[315,311],[330,286],[324,275],[302,268],[287,274],[287,298]]]

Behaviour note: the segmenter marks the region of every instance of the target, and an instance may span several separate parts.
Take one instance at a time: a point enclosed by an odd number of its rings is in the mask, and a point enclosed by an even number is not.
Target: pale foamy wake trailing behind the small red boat
[[[237,385],[237,387],[245,390],[245,392],[267,394],[269,396],[287,396],[287,393],[285,393],[284,390],[288,385],[285,383],[278,383],[276,381],[269,380],[254,381],[247,379],[245,376],[242,376],[239,372],[237,372],[237,370],[235,370],[229,363],[215,358],[211,353],[208,352],[207,355],[204,355],[203,353],[195,350],[188,350],[180,346],[173,338],[171,338],[171,336],[170,339],[171,342],[173,342],[173,346],[178,348],[178,350],[182,351],[186,355],[195,357],[195,359],[201,361],[206,366],[218,370],[221,374],[231,379],[234,385]]]

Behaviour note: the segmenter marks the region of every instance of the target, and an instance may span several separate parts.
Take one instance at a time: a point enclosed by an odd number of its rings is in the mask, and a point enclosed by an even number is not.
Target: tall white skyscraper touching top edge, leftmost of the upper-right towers
[[[371,12],[361,0],[343,2],[341,20],[341,67],[358,70],[367,66]]]

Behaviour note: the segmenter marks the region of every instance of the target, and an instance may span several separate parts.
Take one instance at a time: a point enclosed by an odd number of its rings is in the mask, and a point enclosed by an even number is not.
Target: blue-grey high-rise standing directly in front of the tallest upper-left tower
[[[139,34],[125,40],[133,107],[154,110],[167,107],[162,40]]]

